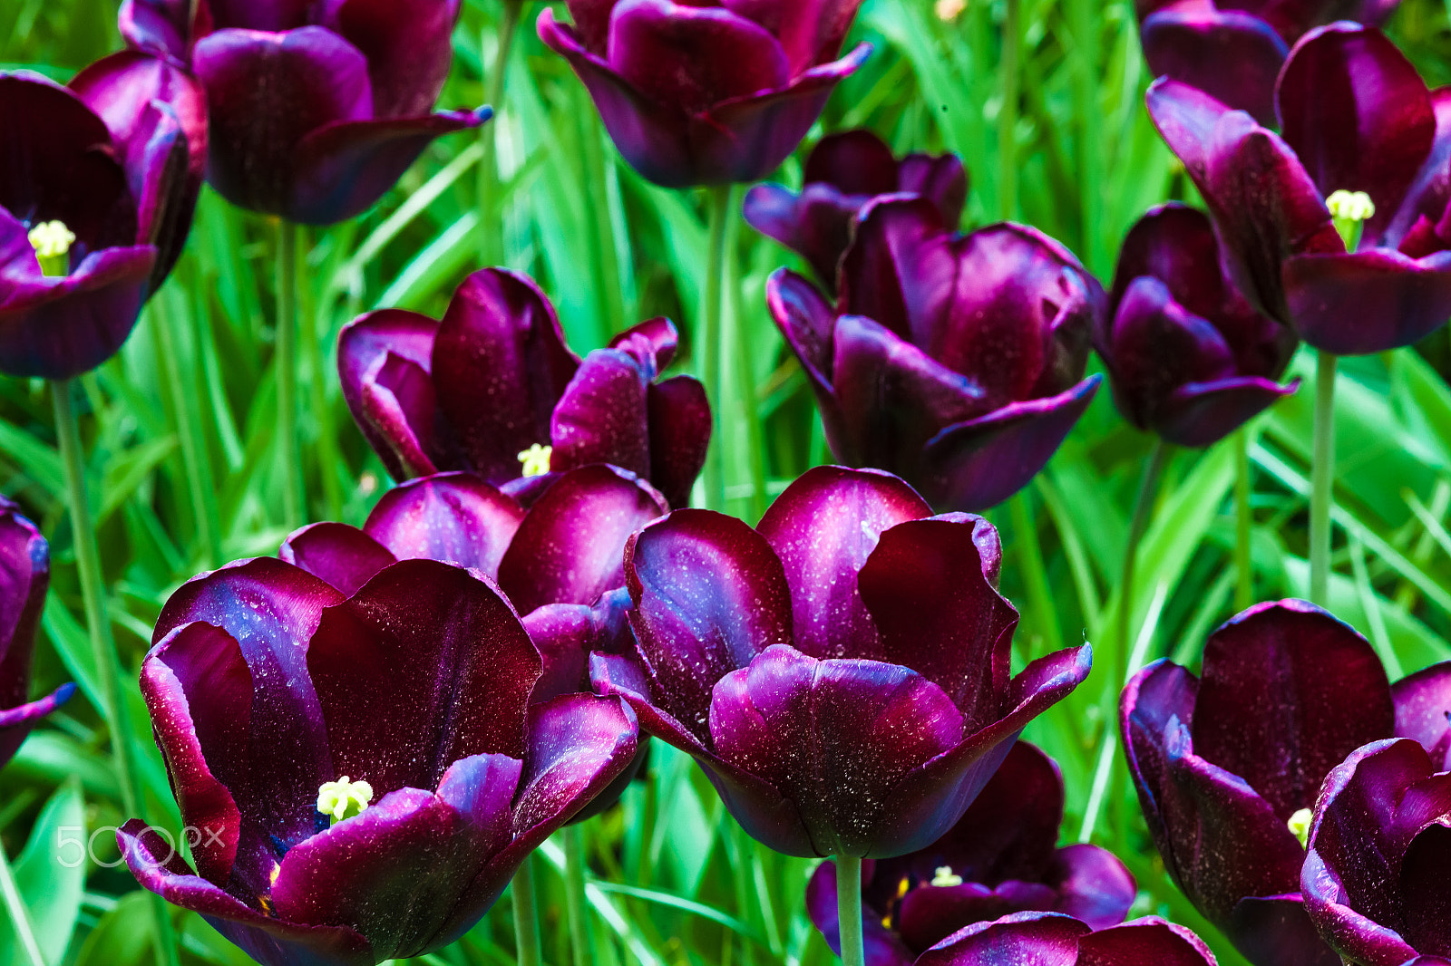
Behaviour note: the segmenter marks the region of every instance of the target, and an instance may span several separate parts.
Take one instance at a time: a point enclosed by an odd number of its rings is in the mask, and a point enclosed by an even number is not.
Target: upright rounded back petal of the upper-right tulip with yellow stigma
[[[1332,23],[1294,45],[1275,106],[1320,194],[1365,191],[1380,223],[1400,207],[1435,141],[1425,81],[1386,35],[1357,23]]]

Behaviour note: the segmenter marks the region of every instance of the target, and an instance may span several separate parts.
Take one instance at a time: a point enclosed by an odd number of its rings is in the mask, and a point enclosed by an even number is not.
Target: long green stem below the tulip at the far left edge
[[[106,616],[106,585],[100,571],[96,527],[91,522],[90,503],[86,496],[86,455],[81,448],[80,424],[71,405],[71,387],[68,379],[54,380],[51,383],[51,403],[55,408],[55,435],[61,448],[61,463],[65,466],[71,540],[75,545],[75,570],[80,576],[81,600],[86,606],[86,628],[90,632],[96,676],[100,679],[99,698],[104,705],[99,711],[110,728],[110,753],[115,759],[116,780],[120,785],[120,805],[128,817],[145,818],[139,770],[132,757],[131,728],[126,722],[126,705],[122,701],[120,657],[116,654],[116,641],[110,635],[110,618]],[[155,917],[157,966],[177,966],[176,937],[165,899],[152,895],[151,912]]]

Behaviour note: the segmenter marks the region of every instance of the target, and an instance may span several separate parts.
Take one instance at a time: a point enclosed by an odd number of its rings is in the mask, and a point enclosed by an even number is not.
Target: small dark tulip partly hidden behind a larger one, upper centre
[[[878,194],[920,194],[956,228],[968,200],[968,173],[955,154],[892,157],[871,131],[827,135],[807,155],[801,193],[757,184],[746,193],[746,220],[805,258],[836,289],[836,267],[852,244],[862,206]]]

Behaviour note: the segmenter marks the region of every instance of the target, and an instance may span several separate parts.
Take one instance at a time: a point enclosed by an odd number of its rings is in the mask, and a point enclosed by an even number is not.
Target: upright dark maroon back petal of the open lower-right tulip
[[[1310,808],[1325,775],[1393,722],[1374,648],[1315,605],[1261,603],[1204,645],[1194,751],[1248,782],[1281,821]]]

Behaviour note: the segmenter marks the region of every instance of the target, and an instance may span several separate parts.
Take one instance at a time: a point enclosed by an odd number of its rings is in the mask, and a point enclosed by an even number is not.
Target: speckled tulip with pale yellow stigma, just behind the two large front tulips
[[[338,338],[342,396],[396,480],[472,470],[528,499],[550,473],[609,463],[689,502],[711,410],[699,380],[657,379],[675,357],[669,319],[617,335],[583,361],[531,278],[485,268],[441,322],[382,309]]]

